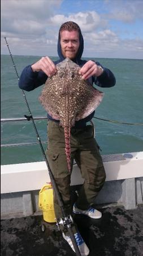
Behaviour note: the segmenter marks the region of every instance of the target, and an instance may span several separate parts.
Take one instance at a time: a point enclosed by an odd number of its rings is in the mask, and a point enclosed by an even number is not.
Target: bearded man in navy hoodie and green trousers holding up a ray
[[[57,72],[56,64],[63,61],[66,57],[70,58],[81,67],[79,71],[80,75],[83,79],[89,80],[90,84],[94,82],[101,87],[114,86],[115,77],[109,69],[103,68],[101,64],[92,60],[81,60],[83,49],[84,40],[80,27],[75,22],[63,23],[60,27],[58,38],[59,60],[53,63],[53,61],[46,56],[26,67],[21,73],[19,87],[31,91],[45,84],[47,77],[54,76]],[[70,197],[71,175],[68,171],[66,153],[64,150],[64,130],[63,127],[59,127],[59,121],[51,118],[49,114],[47,114],[49,122],[47,126],[48,148],[46,150],[46,156],[67,212],[72,214],[73,210],[74,213],[84,214],[90,218],[101,218],[101,212],[94,209],[92,205],[94,204],[94,199],[98,192],[103,187],[106,175],[102,158],[99,154],[98,144],[93,138],[93,127],[87,125],[87,122],[89,122],[93,116],[94,112],[88,117],[76,121],[75,126],[71,129],[71,163],[73,165],[73,159],[75,159],[81,170],[81,175],[85,180],[79,192],[79,197],[73,205],[73,209]],[[54,209],[55,216],[57,219],[60,219],[62,214],[55,193]],[[61,229],[64,239],[67,240],[73,249],[71,239],[68,237],[66,230],[62,227]],[[73,229],[73,233],[75,234],[81,255],[88,255],[89,249],[77,228]]]

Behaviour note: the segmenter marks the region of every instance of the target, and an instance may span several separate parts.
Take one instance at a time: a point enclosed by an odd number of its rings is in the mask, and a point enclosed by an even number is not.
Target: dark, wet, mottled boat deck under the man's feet
[[[100,220],[76,216],[90,256],[142,256],[143,205],[135,210],[124,207],[102,208]],[[62,233],[55,232],[55,224],[45,223],[42,216],[1,220],[1,256],[74,256],[76,255]]]

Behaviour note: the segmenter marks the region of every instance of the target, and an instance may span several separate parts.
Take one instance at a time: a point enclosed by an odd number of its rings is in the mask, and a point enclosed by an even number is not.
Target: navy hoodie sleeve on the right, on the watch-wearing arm
[[[102,67],[101,64],[99,64],[98,62],[96,62],[97,65],[100,65]],[[100,87],[112,87],[116,84],[116,79],[115,76],[113,75],[113,73],[110,71],[110,69],[108,68],[104,68],[103,73],[101,74],[101,76],[98,77],[94,77],[94,83]]]

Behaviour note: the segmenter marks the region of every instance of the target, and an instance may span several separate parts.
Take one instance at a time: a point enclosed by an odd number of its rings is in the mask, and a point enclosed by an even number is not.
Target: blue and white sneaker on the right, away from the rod
[[[99,212],[99,210],[94,209],[93,207],[90,207],[88,210],[80,210],[74,204],[73,212],[77,213],[77,214],[84,214],[90,218],[101,218],[102,217],[102,213]]]

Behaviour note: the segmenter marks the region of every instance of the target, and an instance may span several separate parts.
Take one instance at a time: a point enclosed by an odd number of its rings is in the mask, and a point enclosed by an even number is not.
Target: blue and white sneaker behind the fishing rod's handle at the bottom
[[[69,236],[66,236],[64,233],[62,233],[62,234],[63,234],[63,238],[68,242],[68,244],[71,246],[71,249],[75,252],[75,249],[73,247],[71,238]],[[80,250],[81,256],[88,255],[89,254],[88,246],[84,242],[84,240],[81,237],[80,233],[77,232],[77,233],[74,234],[74,236],[75,236],[75,239],[76,239],[76,243],[79,246],[79,250]]]

